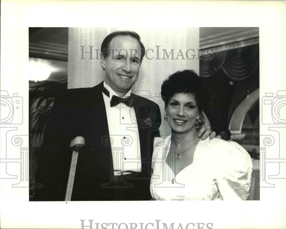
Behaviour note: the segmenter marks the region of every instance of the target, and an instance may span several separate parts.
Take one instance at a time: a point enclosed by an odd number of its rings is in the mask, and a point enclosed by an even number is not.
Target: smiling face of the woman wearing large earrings
[[[176,93],[166,106],[167,121],[174,133],[188,133],[196,129],[196,119],[200,117],[193,94]]]

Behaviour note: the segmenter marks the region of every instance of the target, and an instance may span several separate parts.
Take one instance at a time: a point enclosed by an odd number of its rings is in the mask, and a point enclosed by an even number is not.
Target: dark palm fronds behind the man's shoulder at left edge
[[[43,81],[29,88],[31,134],[42,135],[55,98],[67,89],[67,82]]]

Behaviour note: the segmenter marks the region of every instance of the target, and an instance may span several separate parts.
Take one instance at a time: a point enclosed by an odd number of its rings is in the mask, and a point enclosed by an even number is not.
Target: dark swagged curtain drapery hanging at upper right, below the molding
[[[221,68],[232,80],[249,77],[259,66],[259,44],[213,53],[211,60],[200,60],[200,76],[209,77]]]

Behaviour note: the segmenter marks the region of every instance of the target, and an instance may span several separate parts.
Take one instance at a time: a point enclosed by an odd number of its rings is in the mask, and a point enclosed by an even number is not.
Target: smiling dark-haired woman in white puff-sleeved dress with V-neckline
[[[246,200],[252,162],[238,143],[198,137],[196,125],[207,101],[192,70],[164,81],[161,95],[172,135],[155,138],[150,192],[154,200]]]

